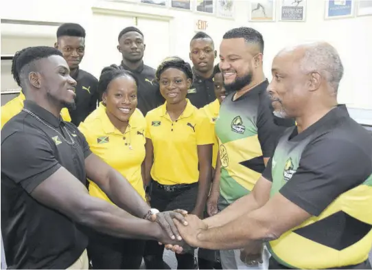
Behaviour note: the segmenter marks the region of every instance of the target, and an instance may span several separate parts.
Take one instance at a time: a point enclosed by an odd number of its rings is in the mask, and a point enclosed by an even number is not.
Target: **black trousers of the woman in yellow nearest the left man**
[[[139,269],[146,241],[89,233],[87,248],[93,269]]]

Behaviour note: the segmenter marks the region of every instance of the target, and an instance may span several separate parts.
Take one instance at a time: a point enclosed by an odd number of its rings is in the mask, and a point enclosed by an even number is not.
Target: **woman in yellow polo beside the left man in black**
[[[113,65],[102,70],[98,91],[102,102],[79,126],[91,151],[120,172],[145,199],[142,164],[145,159],[146,121],[137,106],[137,79]],[[89,193],[110,201],[90,182]],[[114,238],[91,232],[89,258],[93,269],[139,269],[144,240]]]

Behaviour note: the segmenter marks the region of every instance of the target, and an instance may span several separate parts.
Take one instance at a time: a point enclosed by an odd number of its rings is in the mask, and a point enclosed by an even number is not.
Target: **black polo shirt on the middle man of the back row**
[[[135,74],[139,84],[137,88],[137,108],[143,115],[165,102],[160,93],[159,83],[155,78],[155,69],[144,65],[143,62],[138,69],[134,70],[124,65],[122,61],[119,67]]]

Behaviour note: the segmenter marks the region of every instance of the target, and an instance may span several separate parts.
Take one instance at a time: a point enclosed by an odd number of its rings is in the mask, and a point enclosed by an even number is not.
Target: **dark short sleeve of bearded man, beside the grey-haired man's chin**
[[[277,138],[283,134],[289,126],[294,126],[293,119],[276,117],[267,96],[261,98],[257,116],[257,133],[264,157],[271,157]]]

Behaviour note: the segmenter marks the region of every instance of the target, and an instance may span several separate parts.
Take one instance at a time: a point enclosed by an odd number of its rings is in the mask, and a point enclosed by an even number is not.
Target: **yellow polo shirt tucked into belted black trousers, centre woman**
[[[167,103],[146,115],[146,137],[154,146],[151,176],[162,185],[196,183],[199,180],[198,145],[213,144],[213,126],[189,100],[176,121],[170,119]]]

